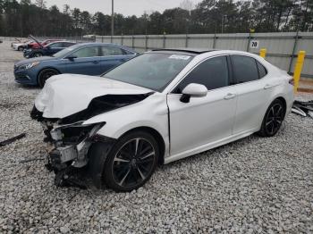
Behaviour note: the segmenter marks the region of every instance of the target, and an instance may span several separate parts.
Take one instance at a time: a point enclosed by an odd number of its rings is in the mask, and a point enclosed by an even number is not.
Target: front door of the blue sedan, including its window
[[[100,72],[98,46],[82,47],[63,59],[63,73],[74,73],[96,76]]]

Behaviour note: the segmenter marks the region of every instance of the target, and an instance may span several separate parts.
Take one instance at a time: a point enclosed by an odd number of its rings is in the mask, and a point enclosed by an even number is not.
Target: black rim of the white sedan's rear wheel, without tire
[[[269,109],[266,117],[266,131],[273,135],[275,134],[282,125],[283,122],[283,105],[273,104]]]

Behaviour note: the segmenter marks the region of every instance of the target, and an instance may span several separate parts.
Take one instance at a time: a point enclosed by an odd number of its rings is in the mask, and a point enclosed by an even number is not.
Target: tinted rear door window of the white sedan
[[[254,58],[243,55],[232,55],[233,75],[237,83],[258,79],[258,67]]]

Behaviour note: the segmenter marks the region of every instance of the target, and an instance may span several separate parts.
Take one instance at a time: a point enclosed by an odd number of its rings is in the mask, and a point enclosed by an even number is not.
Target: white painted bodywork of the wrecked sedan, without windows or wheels
[[[268,71],[255,81],[217,88],[204,97],[180,101],[182,95],[171,91],[199,63],[215,56],[241,54],[255,58]],[[221,146],[260,130],[266,109],[275,98],[283,97],[287,113],[293,103],[290,76],[255,54],[241,51],[214,51],[196,55],[163,92],[143,101],[98,114],[84,124],[106,121],[98,135],[120,138],[138,127],[148,127],[165,142],[165,163]],[[63,118],[85,109],[90,100],[105,94],[146,94],[148,88],[119,81],[63,74],[48,79],[35,105],[47,118]]]

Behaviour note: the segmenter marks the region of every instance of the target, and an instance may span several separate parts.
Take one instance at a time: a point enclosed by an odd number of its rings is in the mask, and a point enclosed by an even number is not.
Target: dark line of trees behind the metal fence
[[[111,7],[110,5],[107,6]],[[313,0],[203,0],[163,13],[114,14],[115,35],[312,31]],[[68,4],[47,8],[44,0],[0,0],[0,36],[110,35],[111,15]]]

